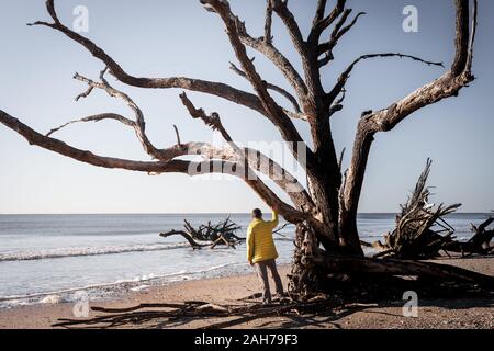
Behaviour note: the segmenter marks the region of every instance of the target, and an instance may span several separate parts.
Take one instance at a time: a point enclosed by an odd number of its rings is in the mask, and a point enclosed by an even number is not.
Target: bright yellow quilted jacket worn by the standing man
[[[247,260],[252,263],[278,258],[272,240],[272,229],[278,225],[278,213],[272,212],[271,220],[254,219],[247,229]]]

